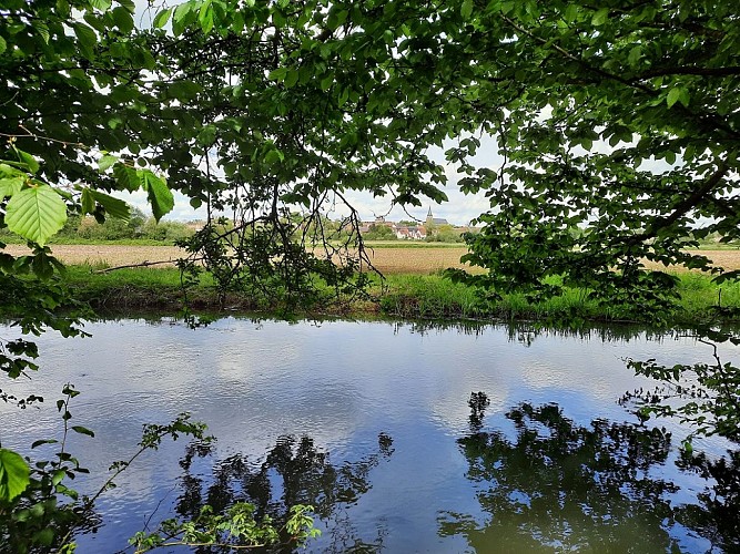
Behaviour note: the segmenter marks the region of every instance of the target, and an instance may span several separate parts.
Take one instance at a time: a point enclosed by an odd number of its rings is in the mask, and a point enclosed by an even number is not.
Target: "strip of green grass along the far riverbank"
[[[711,324],[736,320],[740,312],[740,284],[711,283],[710,277],[679,274],[680,309],[672,316],[676,325]],[[72,266],[68,281],[80,300],[99,311],[176,311],[182,307],[183,290],[175,268],[118,269],[95,273],[90,266]],[[325,302],[316,312],[326,315],[384,315],[404,318],[495,318],[528,320],[624,321],[633,320],[614,307],[600,307],[588,299],[584,289],[568,289],[565,295],[543,302],[529,302],[523,295],[507,295],[499,301],[483,301],[474,289],[456,285],[439,275],[389,275],[381,284],[373,281],[371,299],[344,304]],[[264,309],[252,297],[230,294],[220,298],[212,280],[204,276],[189,289],[194,310],[209,312]],[[651,322],[651,321],[645,321]]]

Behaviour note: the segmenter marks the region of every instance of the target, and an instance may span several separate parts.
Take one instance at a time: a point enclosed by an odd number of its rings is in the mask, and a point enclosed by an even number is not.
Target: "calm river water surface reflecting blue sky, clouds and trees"
[[[71,444],[93,475],[134,451],[143,423],[183,411],[217,442],[168,442],[138,461],[101,497],[102,525],[78,552],[116,552],[158,521],[240,499],[278,519],[285,503],[316,506],[323,534],[310,552],[732,550],[712,512],[717,483],[679,466],[687,430],[641,428],[617,402],[655,386],[625,357],[710,362],[690,338],[250,319],[85,330],[38,340],[41,371],[12,392],[47,401],[0,406],[3,445],[59,435],[65,382],[82,391],[72,422],[95,431]],[[739,353],[721,349],[723,361]],[[710,461],[731,447],[695,445]]]

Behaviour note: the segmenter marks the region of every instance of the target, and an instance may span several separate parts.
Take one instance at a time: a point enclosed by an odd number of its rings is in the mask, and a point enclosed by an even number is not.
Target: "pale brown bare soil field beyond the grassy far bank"
[[[28,254],[21,245],[8,245],[6,252],[12,255]],[[174,260],[184,255],[175,246],[122,246],[122,245],[57,245],[54,255],[65,264],[105,265],[110,267],[160,263],[160,266],[174,265]],[[467,250],[459,248],[375,248],[368,256],[384,274],[429,274],[447,267],[465,267],[459,259]],[[740,250],[701,250],[702,255],[724,269],[740,269]],[[652,268],[662,268],[658,264],[648,264]],[[158,266],[159,267],[159,266]],[[677,268],[677,270],[681,270]]]

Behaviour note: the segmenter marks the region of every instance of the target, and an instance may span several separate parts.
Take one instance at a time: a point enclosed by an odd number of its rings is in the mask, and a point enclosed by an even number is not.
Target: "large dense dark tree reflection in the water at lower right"
[[[679,548],[671,532],[686,533],[682,527],[719,547],[740,544],[737,455],[721,468],[687,459],[718,484],[700,497],[701,507],[673,507],[667,495],[678,488],[650,475],[667,461],[669,433],[604,420],[579,427],[557,406],[523,403],[506,414],[516,430],[509,440],[500,431],[480,431],[485,403],[477,394],[472,432],[458,442],[490,517],[480,525],[473,516],[447,514],[443,535],[464,534],[478,552],[670,552]],[[719,489],[727,494],[717,494]]]

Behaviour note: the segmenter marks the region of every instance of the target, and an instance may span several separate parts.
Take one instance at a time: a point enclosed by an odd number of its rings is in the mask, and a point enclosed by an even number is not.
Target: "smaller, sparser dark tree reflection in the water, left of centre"
[[[191,466],[195,456],[209,455],[211,448],[193,443],[181,461],[184,493],[176,511],[183,517],[194,517],[204,504],[219,513],[235,502],[250,502],[257,509],[257,519],[267,515],[282,526],[291,506],[311,504],[330,527],[324,552],[375,552],[382,546],[383,533],[378,531],[374,543],[359,541],[342,511],[371,489],[371,470],[393,451],[393,439],[381,433],[376,452],[357,462],[334,465],[313,439],[281,437],[262,464],[249,463],[245,455],[235,454],[216,463],[212,476],[202,476],[191,473]]]

